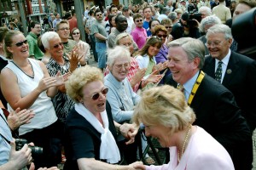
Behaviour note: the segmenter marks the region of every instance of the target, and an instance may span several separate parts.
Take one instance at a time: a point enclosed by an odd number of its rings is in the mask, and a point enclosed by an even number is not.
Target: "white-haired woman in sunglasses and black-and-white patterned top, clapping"
[[[70,57],[63,52],[63,44],[61,38],[55,31],[45,32],[42,36],[42,43],[45,51],[50,54],[49,62],[46,68],[50,76],[54,76],[57,72],[61,72],[62,75],[70,75],[70,72],[79,67],[79,61],[82,57],[79,57],[77,51],[73,51]],[[65,80],[67,80],[65,77]],[[61,122],[66,122],[66,117],[73,108],[74,102],[66,94],[65,86],[62,85],[58,88],[58,93],[52,99],[55,107],[56,115]]]

